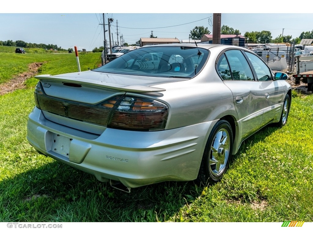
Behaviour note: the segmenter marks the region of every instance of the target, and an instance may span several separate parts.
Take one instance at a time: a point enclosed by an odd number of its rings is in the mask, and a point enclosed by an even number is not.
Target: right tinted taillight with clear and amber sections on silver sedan
[[[112,111],[108,127],[138,131],[164,130],[167,116],[167,105],[159,101],[125,96]]]

